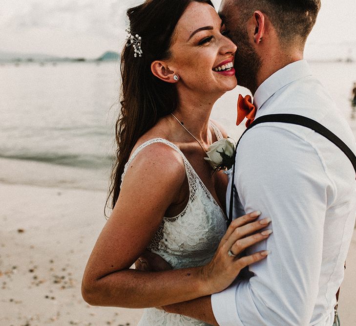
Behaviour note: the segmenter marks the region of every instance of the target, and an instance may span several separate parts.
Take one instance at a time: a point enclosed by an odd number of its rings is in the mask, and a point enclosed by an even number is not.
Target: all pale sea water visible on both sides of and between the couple
[[[349,102],[356,63],[311,66],[356,134]],[[0,65],[0,158],[47,163],[52,169],[85,169],[82,175],[88,178],[105,171],[102,175],[108,177],[119,88],[118,63]],[[235,139],[244,130],[234,124],[238,93],[248,91],[237,87],[220,98],[212,112]],[[0,172],[2,181],[11,182],[11,177]]]

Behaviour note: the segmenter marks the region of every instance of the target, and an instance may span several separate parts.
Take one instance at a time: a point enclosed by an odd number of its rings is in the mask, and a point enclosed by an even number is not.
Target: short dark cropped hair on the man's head
[[[310,34],[321,0],[235,0],[240,15],[251,17],[260,10],[271,20],[282,43],[290,43],[299,39],[305,43]]]

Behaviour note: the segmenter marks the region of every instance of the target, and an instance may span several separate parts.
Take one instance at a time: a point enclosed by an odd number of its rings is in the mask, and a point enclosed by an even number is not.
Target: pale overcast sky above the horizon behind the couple
[[[120,51],[128,7],[143,0],[0,0],[0,51],[94,58]],[[220,0],[213,1],[218,8]],[[322,0],[307,58],[356,58],[356,0]]]

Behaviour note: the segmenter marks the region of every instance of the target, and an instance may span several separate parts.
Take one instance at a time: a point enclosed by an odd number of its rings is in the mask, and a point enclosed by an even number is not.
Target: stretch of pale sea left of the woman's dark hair
[[[118,76],[112,63],[0,66],[0,157],[109,165]]]

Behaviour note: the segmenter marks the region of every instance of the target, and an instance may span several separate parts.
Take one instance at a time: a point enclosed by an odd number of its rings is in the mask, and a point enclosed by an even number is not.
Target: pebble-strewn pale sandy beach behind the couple
[[[24,164],[0,160],[2,167],[16,167],[12,170],[18,171],[19,178]],[[36,171],[51,168],[37,163]],[[60,171],[63,174],[65,168]],[[102,187],[0,183],[1,326],[137,325],[142,310],[91,307],[81,297],[84,266],[105,224]],[[342,325],[352,326],[356,323],[356,232],[347,265],[339,311]]]

